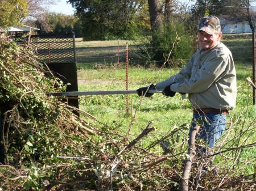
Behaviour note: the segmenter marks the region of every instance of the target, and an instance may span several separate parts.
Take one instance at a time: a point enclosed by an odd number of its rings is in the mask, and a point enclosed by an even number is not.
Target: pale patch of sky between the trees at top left
[[[66,15],[73,15],[75,12],[75,9],[73,9],[71,4],[67,3],[67,0],[56,1],[56,5],[48,5],[48,9],[51,12],[62,13]]]

